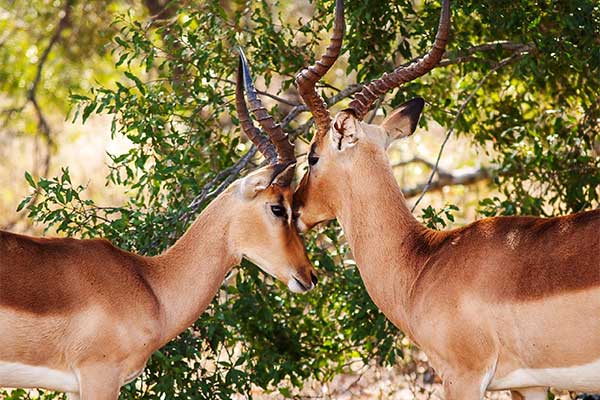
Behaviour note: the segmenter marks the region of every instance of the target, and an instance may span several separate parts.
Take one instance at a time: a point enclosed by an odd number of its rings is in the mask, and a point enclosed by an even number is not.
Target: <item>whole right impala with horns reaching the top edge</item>
[[[444,0],[429,53],[365,84],[332,119],[315,84],[342,45],[337,0],[325,55],[296,78],[316,125],[294,195],[297,226],[339,221],[370,297],[427,354],[447,400],[487,390],[527,400],[546,399],[548,387],[600,391],[600,210],[428,229],[408,209],[386,156],[415,131],[423,99],[380,125],[363,121],[379,96],[438,64],[449,31]]]

